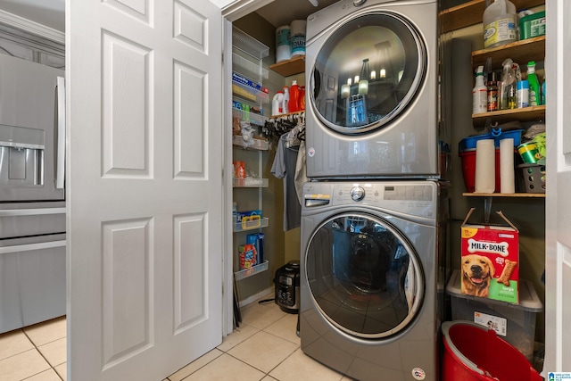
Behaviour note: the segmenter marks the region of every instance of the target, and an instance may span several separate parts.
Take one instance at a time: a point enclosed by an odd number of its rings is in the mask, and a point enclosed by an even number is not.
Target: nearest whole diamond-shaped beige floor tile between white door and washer
[[[236,345],[228,354],[268,373],[292,354],[297,345],[275,335],[260,331]]]

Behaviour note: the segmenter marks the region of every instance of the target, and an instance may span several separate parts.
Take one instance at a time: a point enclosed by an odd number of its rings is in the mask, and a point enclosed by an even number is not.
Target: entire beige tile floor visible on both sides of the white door
[[[217,348],[163,381],[350,380],[301,351],[297,315],[254,302],[242,309],[242,320]],[[65,317],[0,335],[0,380],[65,381]]]

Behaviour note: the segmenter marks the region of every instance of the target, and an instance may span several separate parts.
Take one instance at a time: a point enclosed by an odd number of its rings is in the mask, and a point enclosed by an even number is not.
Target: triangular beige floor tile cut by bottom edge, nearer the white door
[[[186,377],[185,381],[257,381],[264,376],[260,370],[225,353]]]

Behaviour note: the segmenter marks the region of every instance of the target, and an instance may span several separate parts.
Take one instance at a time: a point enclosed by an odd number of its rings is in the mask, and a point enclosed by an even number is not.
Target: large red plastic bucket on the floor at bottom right
[[[445,321],[442,381],[542,381],[525,356],[493,329]]]

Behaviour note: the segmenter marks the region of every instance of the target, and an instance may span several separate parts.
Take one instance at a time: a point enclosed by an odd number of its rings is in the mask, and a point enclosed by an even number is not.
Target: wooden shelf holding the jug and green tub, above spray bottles
[[[492,59],[493,67],[501,67],[506,58],[524,65],[529,61],[543,61],[545,58],[545,36],[526,38],[509,44],[481,49],[472,52],[472,67],[485,65],[488,58]]]

